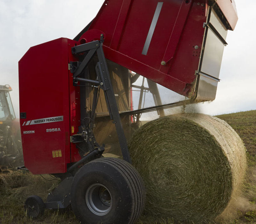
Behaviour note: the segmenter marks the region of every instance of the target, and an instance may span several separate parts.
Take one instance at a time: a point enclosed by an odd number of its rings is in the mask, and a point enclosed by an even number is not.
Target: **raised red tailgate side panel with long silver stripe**
[[[199,5],[185,0],[161,2],[146,55],[142,50],[158,1],[106,1],[87,32],[98,29],[105,33],[103,49],[107,59],[187,96],[199,63],[205,1],[198,1]],[[197,50],[195,45],[199,46]],[[161,65],[161,61],[166,64]]]

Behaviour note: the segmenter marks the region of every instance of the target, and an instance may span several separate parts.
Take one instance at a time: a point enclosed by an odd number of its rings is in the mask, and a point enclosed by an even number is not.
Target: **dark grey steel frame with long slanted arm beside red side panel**
[[[73,54],[81,53],[81,52],[87,52],[86,56],[81,62],[70,62],[71,65],[71,73],[73,73],[73,84],[76,85],[78,81],[80,82],[86,82],[91,83],[96,86],[99,86],[103,91],[105,95],[105,100],[107,104],[107,108],[109,111],[109,115],[111,120],[113,120],[113,123],[115,124],[118,140],[121,147],[121,152],[123,155],[123,159],[127,162],[131,163],[130,154],[128,151],[127,141],[124,135],[123,127],[121,124],[121,119],[117,107],[117,103],[115,100],[115,95],[113,91],[113,87],[111,84],[110,74],[108,70],[108,66],[106,63],[106,59],[103,52],[103,35],[101,35],[100,41],[92,41],[86,44],[81,44],[78,46],[72,47],[71,51]],[[78,77],[88,66],[90,60],[94,57],[95,53],[97,53],[98,62],[95,66],[95,71],[97,78],[96,80],[86,79]],[[76,67],[75,64],[78,66]],[[95,110],[97,106],[97,95],[99,90],[96,89],[94,92],[94,99],[93,99],[93,105],[92,105],[92,111],[91,111],[91,121],[94,121],[95,118]],[[85,98],[81,98],[81,101]],[[81,102],[81,107],[84,103]],[[81,111],[83,109],[81,108]],[[81,114],[81,117],[83,115]],[[82,120],[82,119],[81,119]],[[83,126],[83,123],[81,122],[81,126]],[[81,134],[80,134],[81,135]],[[91,150],[90,150],[91,151]]]

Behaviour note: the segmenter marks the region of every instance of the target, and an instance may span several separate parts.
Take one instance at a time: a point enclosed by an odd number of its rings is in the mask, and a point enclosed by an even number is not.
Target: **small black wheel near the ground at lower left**
[[[24,204],[27,215],[33,219],[42,216],[45,211],[45,204],[39,196],[29,196]]]

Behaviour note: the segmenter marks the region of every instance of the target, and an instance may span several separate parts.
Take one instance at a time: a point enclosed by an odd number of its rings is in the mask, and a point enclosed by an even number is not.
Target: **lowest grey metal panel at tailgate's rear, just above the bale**
[[[197,100],[214,100],[217,92],[218,81],[200,74]]]

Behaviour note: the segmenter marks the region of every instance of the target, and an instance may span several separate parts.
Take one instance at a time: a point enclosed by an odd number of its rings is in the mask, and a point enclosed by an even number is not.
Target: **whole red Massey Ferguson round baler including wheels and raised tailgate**
[[[235,2],[229,0],[106,0],[73,40],[59,38],[31,47],[19,61],[25,163],[20,168],[53,174],[62,181],[46,202],[30,196],[27,214],[36,218],[45,208],[71,205],[83,223],[135,223],[143,212],[145,187],[130,164],[126,138],[139,126],[142,113],[158,111],[164,116],[166,108],[215,99],[227,30],[233,30],[236,21]],[[141,86],[134,84],[139,75],[144,77]],[[189,100],[162,104],[157,84]],[[143,108],[140,97],[134,110],[135,88],[141,95],[150,92],[155,106]],[[103,152],[117,151],[123,159],[102,157]],[[152,152],[145,159],[158,156]],[[227,192],[236,184],[232,178],[227,176]],[[149,180],[144,181],[148,188]],[[214,217],[229,196],[217,212],[201,216]]]

